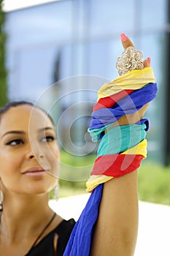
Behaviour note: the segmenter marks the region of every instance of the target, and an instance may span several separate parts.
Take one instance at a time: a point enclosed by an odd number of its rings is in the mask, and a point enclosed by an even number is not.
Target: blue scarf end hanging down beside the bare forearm
[[[72,230],[63,256],[88,256],[93,238],[93,229],[98,219],[103,184],[98,185],[88,199],[80,218]]]

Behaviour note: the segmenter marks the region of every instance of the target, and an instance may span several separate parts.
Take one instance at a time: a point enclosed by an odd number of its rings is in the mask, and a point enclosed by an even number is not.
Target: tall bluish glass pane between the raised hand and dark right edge
[[[146,40],[147,37],[147,40]],[[141,49],[145,56],[151,56],[151,66],[154,70],[155,80],[158,84],[158,96],[151,102],[150,108],[147,110],[147,117],[150,120],[150,129],[147,132],[148,138],[148,157],[163,162],[164,158],[164,143],[163,130],[165,129],[165,102],[166,100],[166,76],[165,76],[165,49],[166,37],[164,33],[142,34]]]

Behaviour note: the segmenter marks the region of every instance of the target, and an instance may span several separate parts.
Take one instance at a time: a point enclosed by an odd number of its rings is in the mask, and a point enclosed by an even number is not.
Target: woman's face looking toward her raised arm
[[[55,128],[42,110],[20,105],[1,116],[0,181],[3,192],[26,195],[49,192],[57,182],[58,166]]]

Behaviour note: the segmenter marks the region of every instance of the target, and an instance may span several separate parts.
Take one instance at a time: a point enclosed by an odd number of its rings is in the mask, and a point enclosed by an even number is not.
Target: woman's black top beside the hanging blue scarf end
[[[74,219],[63,220],[54,230],[47,234],[25,256],[62,256],[75,225]],[[58,234],[57,254],[54,252],[54,236]]]

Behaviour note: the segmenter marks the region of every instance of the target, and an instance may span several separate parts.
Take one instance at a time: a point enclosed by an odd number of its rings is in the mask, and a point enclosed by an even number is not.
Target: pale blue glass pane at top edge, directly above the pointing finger
[[[111,36],[134,29],[135,0],[91,0],[89,4],[90,36]]]

